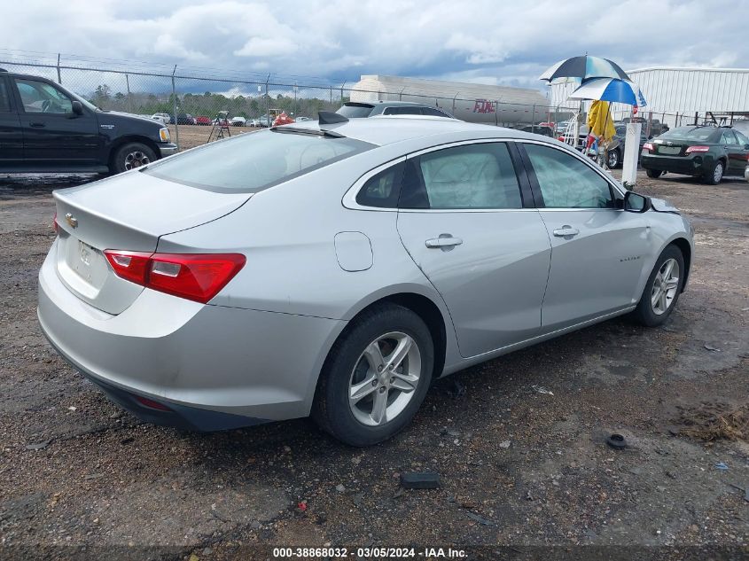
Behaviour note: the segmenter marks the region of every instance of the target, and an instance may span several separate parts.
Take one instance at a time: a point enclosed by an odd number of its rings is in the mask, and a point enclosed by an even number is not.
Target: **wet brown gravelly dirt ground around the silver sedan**
[[[666,325],[619,318],[464,370],[399,436],[355,449],[306,419],[212,434],[144,425],[66,364],[36,323],[36,274],[51,190],[85,179],[0,176],[0,557],[749,555],[744,181],[639,177],[637,191],[696,229]],[[628,448],[607,446],[612,432]],[[403,491],[406,471],[437,471],[441,487]]]

